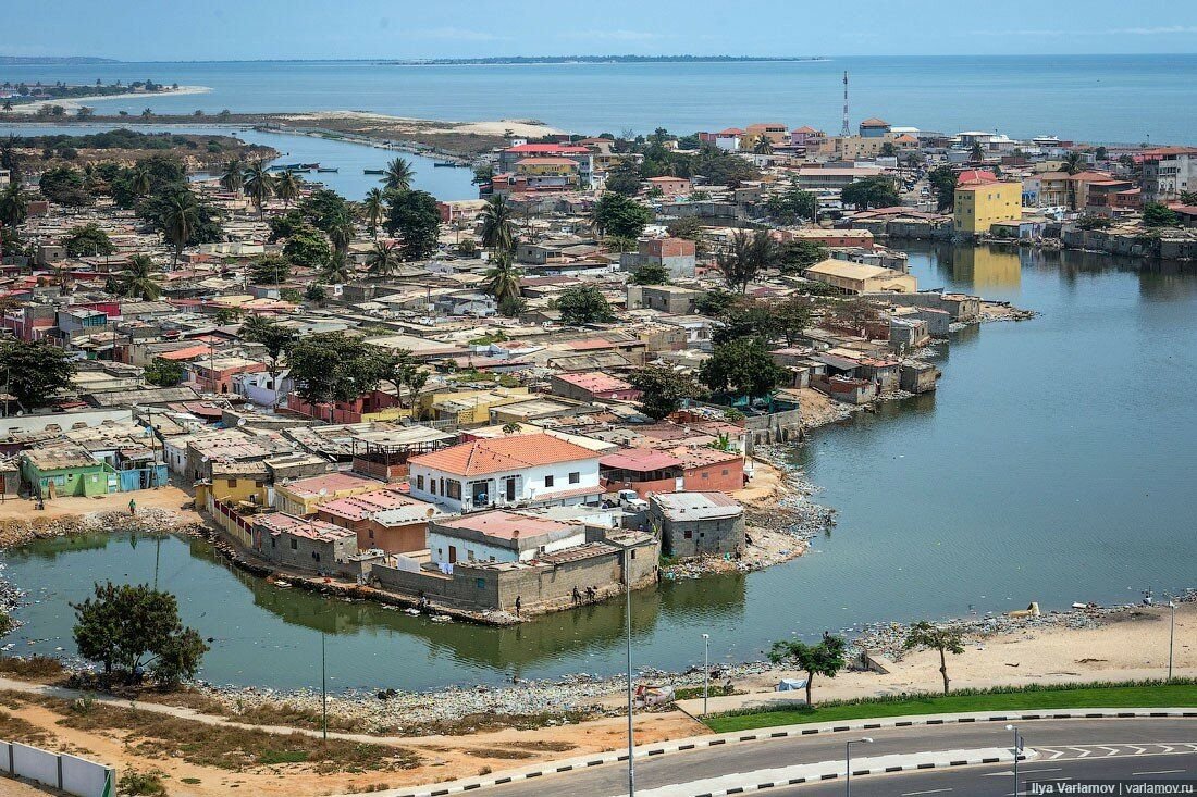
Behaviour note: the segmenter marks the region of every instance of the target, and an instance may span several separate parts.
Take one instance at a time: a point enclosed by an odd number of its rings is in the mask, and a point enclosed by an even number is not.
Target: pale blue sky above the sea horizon
[[[4,0],[0,55],[123,61],[502,55],[1197,53],[1195,0]]]

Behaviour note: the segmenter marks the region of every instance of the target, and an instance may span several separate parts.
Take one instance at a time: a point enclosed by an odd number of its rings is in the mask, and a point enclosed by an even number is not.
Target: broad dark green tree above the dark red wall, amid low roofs
[[[287,353],[296,393],[304,401],[353,401],[391,375],[390,355],[345,333],[318,333],[296,341]]]

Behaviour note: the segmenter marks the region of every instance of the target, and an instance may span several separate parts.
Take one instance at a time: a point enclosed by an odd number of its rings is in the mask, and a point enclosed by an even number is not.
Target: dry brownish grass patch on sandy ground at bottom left
[[[361,744],[306,734],[268,734],[247,728],[213,726],[177,717],[117,706],[72,710],[66,700],[41,698],[62,714],[60,725],[83,731],[126,731],[126,746],[138,755],[181,758],[189,763],[239,772],[259,766],[306,763],[316,772],[412,768],[419,756],[407,749]]]

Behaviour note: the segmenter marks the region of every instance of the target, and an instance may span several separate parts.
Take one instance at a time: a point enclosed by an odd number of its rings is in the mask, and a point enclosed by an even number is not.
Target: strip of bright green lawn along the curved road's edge
[[[949,695],[900,694],[807,706],[745,708],[707,717],[717,734],[831,723],[906,714],[948,714],[970,711],[1046,711],[1055,708],[1161,708],[1197,706],[1197,680],[1137,681],[1129,683],[1061,683],[996,689],[960,689]]]

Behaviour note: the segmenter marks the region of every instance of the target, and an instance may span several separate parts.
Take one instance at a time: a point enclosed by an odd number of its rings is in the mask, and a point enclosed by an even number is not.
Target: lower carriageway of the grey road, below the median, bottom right
[[[1028,781],[1041,780],[1102,780],[1131,778],[1135,780],[1197,780],[1197,750],[1159,755],[1100,755],[1028,761],[1019,768],[1019,793],[1027,793]],[[764,797],[839,797],[844,781],[828,781],[809,786],[771,789]],[[1013,797],[1014,772],[1005,766],[978,766],[960,769],[905,772],[892,775],[870,775],[852,780],[852,797]]]

